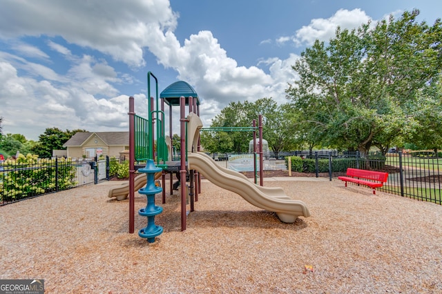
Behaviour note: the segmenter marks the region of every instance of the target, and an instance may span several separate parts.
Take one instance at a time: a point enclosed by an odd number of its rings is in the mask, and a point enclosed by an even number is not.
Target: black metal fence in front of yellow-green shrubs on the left
[[[19,157],[0,164],[0,206],[97,183],[97,158]]]

